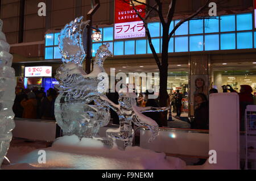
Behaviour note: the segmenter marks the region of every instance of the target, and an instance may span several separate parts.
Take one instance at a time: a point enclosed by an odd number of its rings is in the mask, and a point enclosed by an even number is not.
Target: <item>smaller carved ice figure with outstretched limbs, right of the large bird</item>
[[[134,130],[131,125],[133,122],[138,127],[148,127],[152,132],[152,136],[148,141],[151,142],[154,140],[155,137],[158,136],[159,126],[155,120],[143,115],[142,112],[167,111],[170,109],[170,107],[138,107],[136,102],[137,95],[134,92],[129,92],[126,88],[124,88],[121,89],[118,94],[119,104],[115,104],[111,100],[101,96],[101,99],[106,100],[110,104],[110,107],[117,112],[120,124],[118,129],[108,129],[106,134],[113,138],[113,142],[115,142],[115,140],[123,141],[122,149],[125,149],[127,146],[131,146],[133,144]]]

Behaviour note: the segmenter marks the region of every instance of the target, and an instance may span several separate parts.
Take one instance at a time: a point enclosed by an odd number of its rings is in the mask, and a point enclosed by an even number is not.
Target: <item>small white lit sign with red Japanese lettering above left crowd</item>
[[[27,66],[25,77],[52,77],[51,66]]]

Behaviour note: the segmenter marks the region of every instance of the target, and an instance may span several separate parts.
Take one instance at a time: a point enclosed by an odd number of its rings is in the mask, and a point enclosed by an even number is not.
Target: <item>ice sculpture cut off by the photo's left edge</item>
[[[13,103],[15,98],[15,71],[11,68],[13,56],[9,53],[0,20],[0,166],[10,146],[11,131],[14,129]]]

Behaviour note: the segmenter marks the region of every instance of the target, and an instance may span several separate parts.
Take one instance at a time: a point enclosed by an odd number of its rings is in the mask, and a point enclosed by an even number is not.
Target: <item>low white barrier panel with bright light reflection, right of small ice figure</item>
[[[208,157],[208,133],[166,129],[159,131],[159,136],[149,143],[150,137],[151,132],[142,128],[140,139],[142,148],[170,154]]]

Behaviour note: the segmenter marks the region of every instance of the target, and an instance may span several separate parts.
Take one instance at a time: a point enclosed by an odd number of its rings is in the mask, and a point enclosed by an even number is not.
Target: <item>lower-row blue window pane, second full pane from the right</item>
[[[221,50],[236,49],[236,34],[224,33],[221,34]]]

